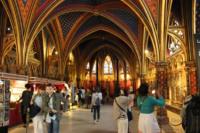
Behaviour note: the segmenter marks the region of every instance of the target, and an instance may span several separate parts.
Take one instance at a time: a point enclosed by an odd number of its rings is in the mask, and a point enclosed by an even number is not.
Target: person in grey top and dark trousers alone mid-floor
[[[100,90],[94,90],[92,93],[92,109],[93,109],[93,120],[94,123],[99,122],[100,119],[100,106],[101,106],[101,100],[102,100],[102,93]]]

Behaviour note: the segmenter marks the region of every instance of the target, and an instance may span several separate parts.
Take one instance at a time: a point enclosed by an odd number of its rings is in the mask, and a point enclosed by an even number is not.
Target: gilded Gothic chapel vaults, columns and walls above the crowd
[[[199,91],[200,0],[1,0],[0,72],[137,89],[181,106]],[[200,45],[200,44],[199,44]]]

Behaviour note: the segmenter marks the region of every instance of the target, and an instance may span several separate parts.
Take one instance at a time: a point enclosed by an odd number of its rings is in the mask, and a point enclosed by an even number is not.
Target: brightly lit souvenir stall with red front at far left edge
[[[25,90],[28,77],[24,75],[0,73],[0,125],[13,126],[21,123],[20,103],[17,100]],[[3,99],[3,100],[2,100]],[[3,102],[2,102],[3,101]],[[3,111],[2,111],[3,109]],[[3,120],[2,123],[1,121]]]

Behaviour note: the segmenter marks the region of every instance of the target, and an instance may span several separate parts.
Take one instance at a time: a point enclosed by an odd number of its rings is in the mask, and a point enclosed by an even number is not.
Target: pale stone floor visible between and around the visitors
[[[138,111],[134,110],[134,120],[130,127],[132,133],[137,133]],[[170,124],[161,125],[162,133],[183,133],[180,125],[180,118],[177,114],[168,111]],[[104,105],[101,109],[101,120],[93,123],[92,114],[89,109],[74,109],[64,114],[60,123],[60,133],[116,133],[116,123],[112,119],[112,106]],[[32,124],[28,131],[21,125],[9,129],[9,133],[33,133]]]

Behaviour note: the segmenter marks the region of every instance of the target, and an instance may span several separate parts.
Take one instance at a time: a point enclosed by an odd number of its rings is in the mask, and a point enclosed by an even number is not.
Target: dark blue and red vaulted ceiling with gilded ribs
[[[171,17],[182,21],[180,0],[172,1],[166,2],[174,12]],[[145,32],[159,58],[159,4],[160,0],[2,0],[22,57],[17,63],[27,63],[32,47],[44,61],[41,50],[50,47],[58,51],[61,69],[76,50],[84,61],[92,58],[92,51],[110,49],[131,66],[141,65]]]

